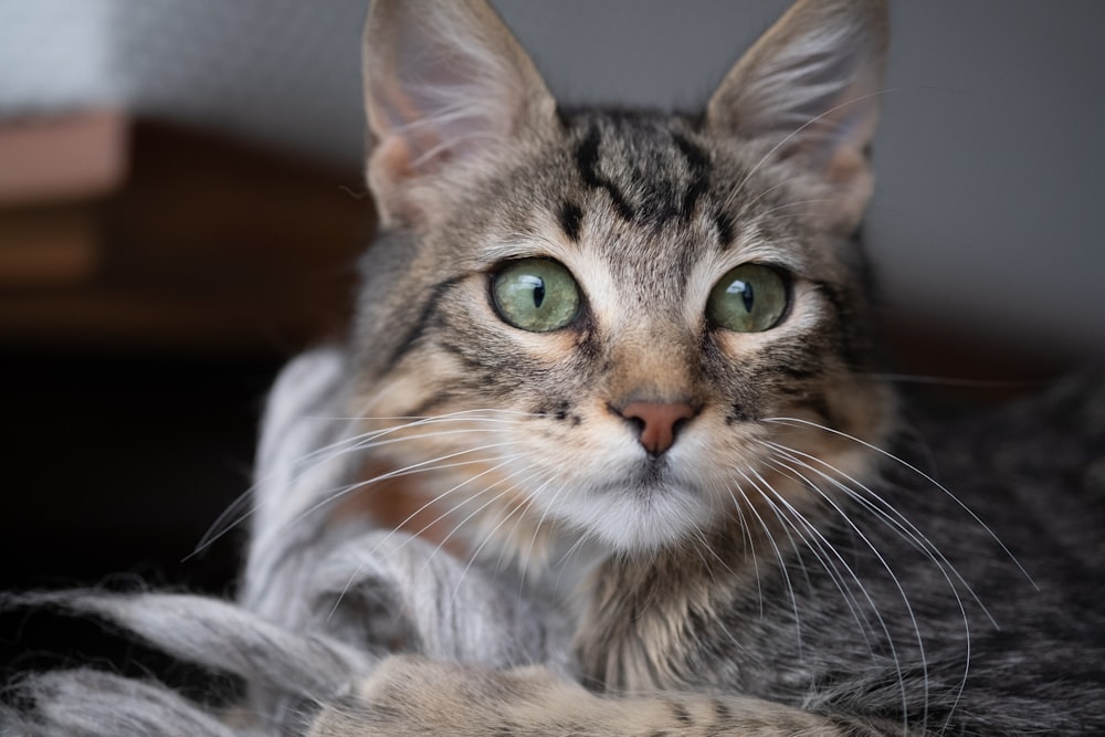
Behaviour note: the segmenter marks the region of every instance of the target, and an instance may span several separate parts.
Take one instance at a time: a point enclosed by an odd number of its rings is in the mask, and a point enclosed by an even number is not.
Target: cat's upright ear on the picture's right
[[[799,0],[740,59],[706,107],[718,135],[761,141],[832,185],[824,214],[859,224],[888,43],[884,0]]]

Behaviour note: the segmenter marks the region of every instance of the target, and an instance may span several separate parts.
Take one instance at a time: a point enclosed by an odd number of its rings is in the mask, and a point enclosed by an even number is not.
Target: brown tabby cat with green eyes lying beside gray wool
[[[484,2],[377,0],[369,474],[390,524],[570,583],[587,689],[397,655],[312,734],[1105,730],[1064,590],[1097,561],[981,455],[953,497],[870,373],[886,46],[881,0],[802,0],[702,115],[566,110]]]

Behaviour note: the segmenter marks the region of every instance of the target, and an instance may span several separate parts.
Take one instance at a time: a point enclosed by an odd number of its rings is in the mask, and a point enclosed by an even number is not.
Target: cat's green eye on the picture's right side
[[[760,333],[779,323],[787,301],[787,284],[778,271],[744,264],[726,272],[711,291],[706,316],[727,330]]]

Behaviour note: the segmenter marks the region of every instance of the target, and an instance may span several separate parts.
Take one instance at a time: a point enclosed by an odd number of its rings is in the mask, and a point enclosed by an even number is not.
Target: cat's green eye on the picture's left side
[[[579,315],[579,287],[567,269],[546,259],[522,259],[492,277],[495,309],[530,333],[557,330]]]

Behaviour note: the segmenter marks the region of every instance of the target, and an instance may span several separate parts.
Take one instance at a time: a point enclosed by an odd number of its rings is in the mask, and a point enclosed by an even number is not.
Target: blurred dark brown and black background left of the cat
[[[358,169],[118,112],[0,125],[0,162],[4,136],[57,173],[0,201],[0,591],[231,594],[242,527],[198,545],[250,487],[280,366],[343,334],[372,229]],[[105,149],[109,182],[61,191]],[[3,670],[165,671],[139,651],[0,613]]]

